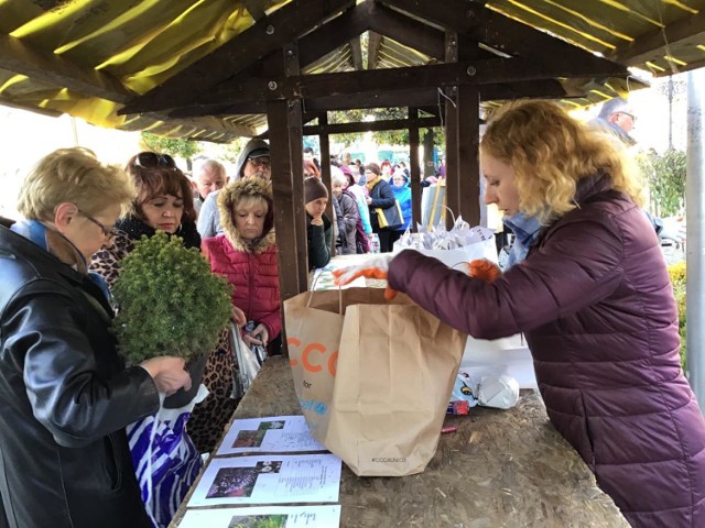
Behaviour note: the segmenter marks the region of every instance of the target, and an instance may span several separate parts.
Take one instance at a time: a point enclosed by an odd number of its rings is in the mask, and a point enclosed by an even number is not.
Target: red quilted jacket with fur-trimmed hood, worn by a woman
[[[262,235],[252,242],[240,237],[232,220],[232,210],[246,196],[262,196],[269,205]],[[205,239],[203,252],[210,270],[235,287],[232,304],[248,320],[264,324],[272,341],[280,334],[282,322],[271,183],[248,178],[229,184],[219,193],[218,211],[224,234]]]

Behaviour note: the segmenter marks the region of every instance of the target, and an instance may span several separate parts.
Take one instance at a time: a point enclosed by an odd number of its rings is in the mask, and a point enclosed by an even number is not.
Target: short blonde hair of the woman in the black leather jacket
[[[40,160],[24,179],[18,210],[31,220],[53,221],[61,204],[76,204],[97,215],[112,205],[124,206],[133,196],[122,168],[104,165],[88,148],[58,148]]]

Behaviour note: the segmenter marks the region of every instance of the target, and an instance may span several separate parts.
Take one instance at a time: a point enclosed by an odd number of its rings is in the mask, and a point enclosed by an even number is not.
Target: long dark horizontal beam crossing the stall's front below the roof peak
[[[384,92],[437,88],[457,85],[494,85],[560,77],[627,76],[623,67],[604,62],[603,69],[583,74],[579,63],[568,65],[538,65],[516,58],[486,58],[456,64],[434,64],[393,69],[346,72],[337,74],[302,75],[278,79],[246,79],[223,85],[194,102],[212,105],[230,101],[232,105],[261,99],[317,98],[359,92]],[[404,106],[400,103],[399,106]]]

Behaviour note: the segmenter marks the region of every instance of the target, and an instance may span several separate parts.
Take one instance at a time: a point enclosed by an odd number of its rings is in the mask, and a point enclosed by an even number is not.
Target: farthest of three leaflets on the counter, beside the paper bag
[[[291,451],[327,451],[313,438],[303,416],[237,419],[223,439],[216,455]]]

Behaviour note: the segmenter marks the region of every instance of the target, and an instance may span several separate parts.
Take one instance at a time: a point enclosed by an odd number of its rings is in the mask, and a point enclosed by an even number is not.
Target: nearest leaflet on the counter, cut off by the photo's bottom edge
[[[336,528],[340,506],[264,506],[257,508],[187,509],[178,528]]]

